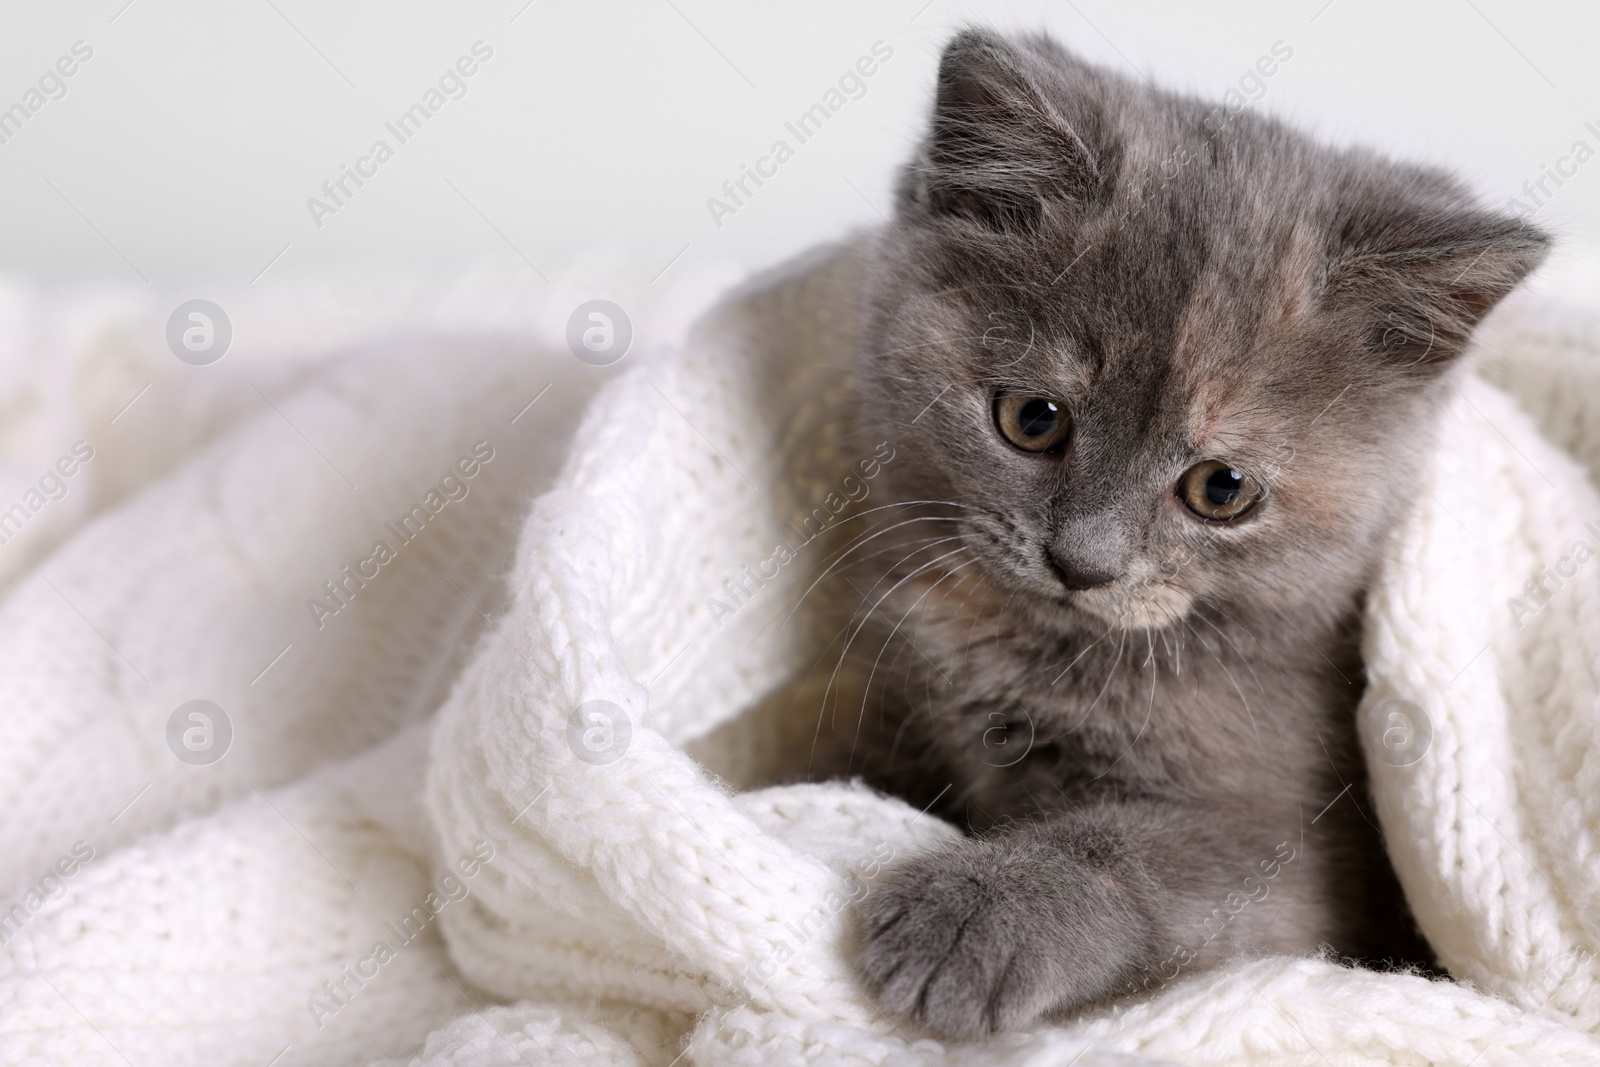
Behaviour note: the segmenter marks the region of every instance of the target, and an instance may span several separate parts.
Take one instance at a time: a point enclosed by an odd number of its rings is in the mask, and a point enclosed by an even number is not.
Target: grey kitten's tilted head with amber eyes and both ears
[[[1342,611],[1547,243],[1442,173],[966,30],[878,243],[864,429],[1035,617]]]

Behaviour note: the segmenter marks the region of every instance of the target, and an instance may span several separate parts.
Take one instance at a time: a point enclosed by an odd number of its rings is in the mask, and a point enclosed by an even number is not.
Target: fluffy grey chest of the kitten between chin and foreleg
[[[1061,633],[962,611],[914,613],[890,643],[904,648],[874,683],[904,707],[899,731],[918,731],[995,817],[1107,790],[1315,797],[1358,769],[1358,657],[1344,641],[1296,649],[1198,617]]]

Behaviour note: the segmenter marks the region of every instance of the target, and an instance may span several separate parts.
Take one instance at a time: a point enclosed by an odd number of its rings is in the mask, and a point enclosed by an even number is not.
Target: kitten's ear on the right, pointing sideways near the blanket
[[[1544,230],[1456,197],[1366,205],[1336,240],[1330,294],[1368,315],[1374,352],[1416,368],[1461,355],[1478,322],[1550,250]]]

